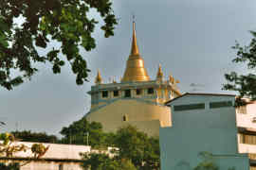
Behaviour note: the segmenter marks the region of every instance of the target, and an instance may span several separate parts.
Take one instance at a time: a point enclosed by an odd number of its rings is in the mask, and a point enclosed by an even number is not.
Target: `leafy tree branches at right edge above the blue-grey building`
[[[246,63],[248,70],[252,71],[247,75],[239,75],[236,72],[226,74],[228,83],[223,86],[224,90],[236,91],[240,97],[246,96],[256,99],[256,32],[250,31],[253,38],[248,46],[242,47],[238,42],[232,47],[237,51],[234,63]]]

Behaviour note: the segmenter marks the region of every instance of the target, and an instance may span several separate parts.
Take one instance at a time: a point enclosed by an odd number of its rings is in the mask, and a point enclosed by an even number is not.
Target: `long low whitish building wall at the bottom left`
[[[24,144],[28,148],[32,146],[32,144],[35,143],[27,143],[27,142],[15,142],[14,145],[21,145]],[[48,150],[46,151],[46,154],[36,161],[29,161],[24,166],[21,166],[21,170],[83,170],[80,166],[79,161],[82,161],[82,157],[80,156],[80,153],[85,152],[97,152],[99,153],[99,150],[92,150],[90,146],[88,145],[75,145],[75,144],[45,144],[42,143],[45,146],[49,146]],[[106,154],[111,154],[112,147],[108,147],[106,151],[103,151]],[[20,165],[27,162],[27,158],[32,157],[32,153],[30,149],[27,149],[26,152],[17,152],[13,155],[14,159],[16,158],[17,162],[20,163]],[[22,159],[25,159],[25,161],[21,161]],[[53,161],[54,160],[54,161]],[[12,160],[11,160],[12,161]],[[6,162],[4,161],[4,158],[1,159],[0,162]],[[60,167],[63,167],[61,169]]]

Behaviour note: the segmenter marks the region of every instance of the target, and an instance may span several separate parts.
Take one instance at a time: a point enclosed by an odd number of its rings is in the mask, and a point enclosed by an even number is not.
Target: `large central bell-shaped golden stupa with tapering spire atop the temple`
[[[144,60],[140,57],[137,47],[137,37],[135,22],[133,22],[133,42],[131,54],[126,62],[126,69],[122,78],[122,82],[127,81],[148,81],[150,77],[144,67]]]

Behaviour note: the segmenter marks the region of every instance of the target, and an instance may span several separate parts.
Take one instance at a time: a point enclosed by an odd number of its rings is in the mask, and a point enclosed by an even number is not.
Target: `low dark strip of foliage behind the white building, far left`
[[[30,130],[12,131],[10,132],[16,139],[23,142],[34,143],[58,143],[55,135],[47,135],[46,132],[31,132]]]

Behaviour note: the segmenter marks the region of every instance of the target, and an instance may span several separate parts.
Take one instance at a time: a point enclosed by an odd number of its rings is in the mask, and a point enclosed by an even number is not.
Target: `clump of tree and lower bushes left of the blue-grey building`
[[[102,143],[113,145],[119,150],[113,152],[113,157],[106,155],[103,150],[101,153],[82,154],[83,168],[91,167],[92,170],[157,170],[160,168],[158,138],[148,137],[147,134],[132,126],[120,127],[116,133],[103,133],[103,136]]]

